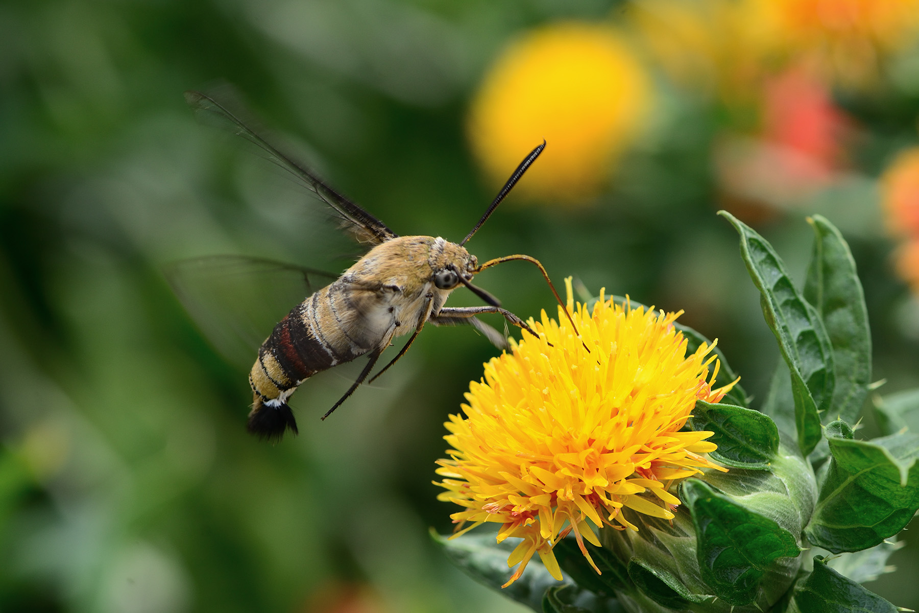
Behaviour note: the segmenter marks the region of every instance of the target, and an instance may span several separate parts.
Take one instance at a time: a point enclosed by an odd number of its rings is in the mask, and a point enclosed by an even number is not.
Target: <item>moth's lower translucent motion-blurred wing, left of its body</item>
[[[337,275],[242,255],[210,255],[165,268],[176,296],[231,364],[249,369],[290,309]]]

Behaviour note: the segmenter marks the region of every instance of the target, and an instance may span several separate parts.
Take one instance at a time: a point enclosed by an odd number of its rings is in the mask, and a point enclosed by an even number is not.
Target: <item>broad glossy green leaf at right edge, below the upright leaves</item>
[[[830,465],[804,534],[834,553],[874,547],[919,509],[919,436],[866,441],[833,434],[827,430]]]

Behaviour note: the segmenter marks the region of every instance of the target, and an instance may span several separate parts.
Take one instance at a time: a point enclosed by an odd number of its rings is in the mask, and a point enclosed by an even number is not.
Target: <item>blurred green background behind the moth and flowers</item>
[[[184,90],[232,82],[395,232],[458,240],[494,196],[465,133],[476,87],[508,40],[567,18],[624,22],[629,6],[0,4],[0,610],[522,610],[427,537],[451,529],[434,460],[447,414],[495,354],[482,336],[425,328],[325,422],[360,365],[311,380],[292,403],[300,437],[271,446],[244,431],[245,371],[199,334],[162,270],[244,254],[340,271],[355,253],[304,191],[196,122]],[[870,86],[833,89],[855,126],[845,176],[794,206],[738,197],[712,161],[725,133],[756,134],[749,104],[676,85],[645,60],[651,127],[608,187],[579,206],[514,195],[471,251],[526,253],[557,283],[573,275],[591,291],[685,309],[681,321],[718,337],[762,398],[777,349],[736,237],[714,213],[729,206],[754,223],[802,278],[803,218],[819,211],[856,255],[881,391],[919,385],[915,299],[891,265],[897,240],[877,183],[919,140],[915,44]],[[479,282],[524,317],[554,310],[523,264]],[[459,289],[450,303],[478,301]],[[891,562],[900,571],[868,588],[919,608],[919,542]]]

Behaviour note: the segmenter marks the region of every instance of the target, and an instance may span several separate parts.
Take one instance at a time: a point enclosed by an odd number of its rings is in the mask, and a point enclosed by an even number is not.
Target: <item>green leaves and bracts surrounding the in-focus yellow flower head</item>
[[[891,542],[919,509],[919,391],[875,399],[887,436],[860,440],[853,426],[869,392],[871,341],[864,294],[848,245],[823,217],[805,287],[754,230],[740,234],[781,361],[768,396],[748,407],[739,386],[721,403],[699,401],[687,427],[714,434],[707,471],[680,482],[672,521],[625,509],[639,529],[600,531],[555,544],[565,580],[531,564],[505,594],[538,611],[893,611],[859,582],[884,572]],[[692,351],[707,339],[680,326]],[[734,373],[719,352],[722,371]],[[761,411],[755,409],[761,409]],[[815,471],[815,469],[818,469]],[[818,476],[819,475],[819,476]],[[507,543],[437,537],[460,568],[498,587]],[[824,558],[832,552],[837,555]]]

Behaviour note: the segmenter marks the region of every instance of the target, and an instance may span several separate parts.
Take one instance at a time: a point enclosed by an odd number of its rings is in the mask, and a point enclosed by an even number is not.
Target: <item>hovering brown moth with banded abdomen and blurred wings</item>
[[[379,377],[402,358],[425,324],[475,327],[495,346],[505,348],[505,335],[482,323],[478,315],[499,313],[505,320],[531,335],[536,335],[514,313],[501,308],[500,302],[484,289],[472,284],[472,278],[482,270],[511,260],[524,260],[539,267],[549,283],[555,299],[562,304],[552,286],[546,269],[529,255],[505,255],[479,264],[475,255],[465,247],[472,236],[488,220],[498,204],[539,157],[545,148],[542,142],[528,153],[507,179],[494,201],[471,232],[459,243],[439,236],[400,236],[382,221],[329,187],[304,165],[281,151],[276,145],[249,127],[238,114],[212,96],[187,92],[189,105],[199,114],[218,119],[235,133],[255,143],[269,158],[293,174],[299,182],[328,205],[342,222],[346,231],[362,243],[371,245],[369,252],[357,260],[341,276],[321,289],[312,290],[311,278],[323,273],[268,260],[242,256],[212,256],[179,262],[167,271],[167,276],[179,299],[202,327],[213,325],[206,308],[201,283],[214,267],[231,269],[261,269],[265,273],[286,272],[301,276],[304,287],[312,293],[278,324],[258,348],[255,364],[249,371],[253,404],[248,417],[248,429],[253,434],[279,440],[289,429],[297,433],[297,422],[288,399],[312,375],[368,355],[369,360],[357,380],[330,408],[323,419],[332,414],[357,387],[367,380],[377,360],[396,336],[411,334],[408,342],[380,369],[370,381]],[[331,279],[328,279],[331,280]],[[447,307],[450,292],[464,286],[485,302],[484,306]],[[304,291],[305,293],[305,291]],[[289,301],[288,304],[294,301]],[[565,310],[567,313],[567,310]],[[569,318],[571,315],[569,314]],[[264,334],[264,333],[262,333]]]

